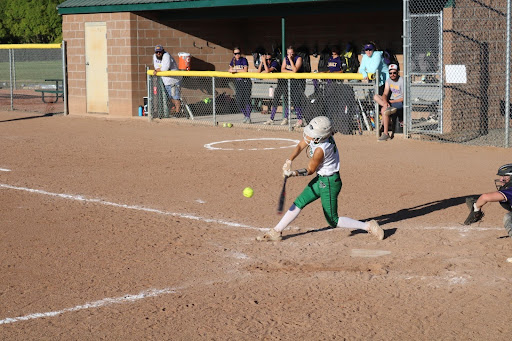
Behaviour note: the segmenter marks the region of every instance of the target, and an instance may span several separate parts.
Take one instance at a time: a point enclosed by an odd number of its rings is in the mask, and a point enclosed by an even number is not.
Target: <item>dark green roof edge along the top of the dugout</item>
[[[82,14],[296,4],[318,1],[332,2],[332,0],[67,0],[58,5],[57,9],[59,14]]]

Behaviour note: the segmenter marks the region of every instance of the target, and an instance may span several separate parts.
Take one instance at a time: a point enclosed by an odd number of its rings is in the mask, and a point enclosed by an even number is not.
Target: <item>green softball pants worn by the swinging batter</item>
[[[331,227],[336,227],[338,225],[338,195],[341,186],[340,173],[334,173],[331,176],[317,175],[295,199],[294,204],[303,209],[320,198],[327,223]]]

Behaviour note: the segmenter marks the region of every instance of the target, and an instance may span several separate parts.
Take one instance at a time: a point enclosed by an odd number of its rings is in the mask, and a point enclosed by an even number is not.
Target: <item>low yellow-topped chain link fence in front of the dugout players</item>
[[[274,130],[297,130],[324,115],[341,134],[375,131],[374,81],[363,82],[360,74],[294,75],[302,78],[279,73],[242,77],[227,72],[149,72],[145,111],[150,119]]]

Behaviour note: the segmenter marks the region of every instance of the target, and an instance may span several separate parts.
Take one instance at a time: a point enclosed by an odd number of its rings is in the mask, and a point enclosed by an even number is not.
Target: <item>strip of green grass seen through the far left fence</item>
[[[45,83],[45,79],[62,79],[62,61],[17,62],[16,83]],[[9,83],[9,62],[0,63],[0,86]]]

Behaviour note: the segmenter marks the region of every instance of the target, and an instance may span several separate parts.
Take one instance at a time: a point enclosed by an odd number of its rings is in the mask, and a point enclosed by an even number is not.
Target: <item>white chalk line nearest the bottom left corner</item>
[[[57,311],[49,311],[46,313],[35,313],[35,314],[29,314],[25,316],[19,316],[19,317],[8,317],[3,320],[0,320],[1,324],[9,324],[9,323],[15,323],[20,321],[27,321],[27,320],[33,320],[38,319],[42,317],[53,317],[57,315],[61,315],[64,313],[70,313],[74,311],[79,310],[85,310],[85,309],[93,309],[93,308],[100,308],[112,304],[121,304],[126,302],[135,302],[139,301],[148,297],[156,297],[161,295],[167,295],[167,294],[174,294],[176,293],[176,289],[173,288],[165,288],[165,289],[150,289],[150,290],[144,290],[136,295],[124,295],[121,297],[114,297],[114,298],[104,298],[99,301],[89,302],[82,305],[77,305],[73,308],[66,308],[62,310]]]

